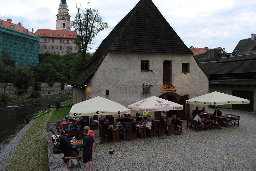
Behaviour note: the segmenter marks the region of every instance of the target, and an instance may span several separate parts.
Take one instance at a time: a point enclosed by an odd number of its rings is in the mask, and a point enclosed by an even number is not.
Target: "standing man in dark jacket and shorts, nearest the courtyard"
[[[84,148],[83,153],[83,162],[85,165],[85,170],[88,170],[88,161],[89,161],[89,168],[90,171],[92,171],[92,145],[94,143],[93,137],[88,134],[88,130],[84,129],[84,139],[83,139],[83,145],[80,146],[80,148]]]

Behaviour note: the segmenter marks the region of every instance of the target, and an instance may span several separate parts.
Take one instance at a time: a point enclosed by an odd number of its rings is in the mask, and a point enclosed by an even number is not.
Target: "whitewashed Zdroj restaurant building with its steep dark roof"
[[[74,103],[101,96],[128,106],[157,96],[183,105],[168,118],[190,117],[195,106],[185,101],[207,93],[208,77],[151,0],[140,0],[102,41],[73,92]]]

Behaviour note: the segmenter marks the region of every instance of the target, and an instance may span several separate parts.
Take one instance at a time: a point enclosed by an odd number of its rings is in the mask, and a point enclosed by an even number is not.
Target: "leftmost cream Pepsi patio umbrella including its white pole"
[[[92,116],[92,115],[119,115],[130,114],[131,110],[127,109],[120,103],[97,96],[92,99],[74,104],[69,111],[71,117]],[[100,118],[99,118],[99,139],[100,139]]]

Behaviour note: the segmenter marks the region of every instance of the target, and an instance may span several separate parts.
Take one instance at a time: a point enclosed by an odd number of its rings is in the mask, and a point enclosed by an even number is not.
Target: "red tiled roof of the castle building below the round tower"
[[[40,33],[40,35],[37,35],[37,33]],[[52,33],[52,36],[50,36],[50,33]],[[65,36],[62,36],[62,34],[65,34]],[[76,38],[74,35],[78,35],[76,31],[71,30],[49,30],[49,29],[38,29],[36,32],[34,32],[34,35],[39,37],[59,37],[59,38]]]

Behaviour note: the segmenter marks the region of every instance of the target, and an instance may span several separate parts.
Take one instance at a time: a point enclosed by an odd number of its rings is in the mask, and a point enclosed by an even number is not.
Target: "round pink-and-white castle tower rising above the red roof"
[[[66,0],[60,0],[59,12],[56,15],[56,29],[70,30],[70,15],[68,14],[68,5]]]

